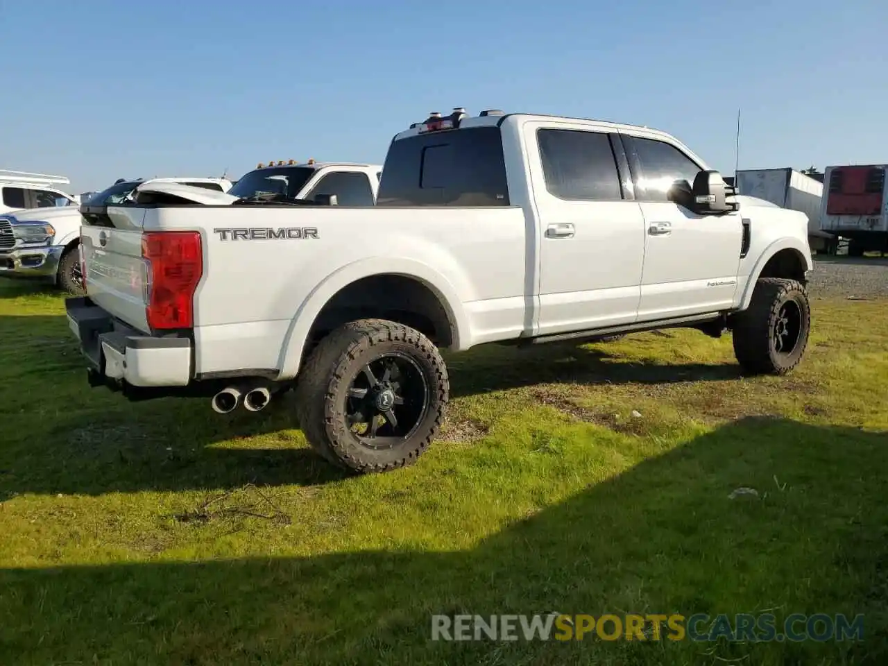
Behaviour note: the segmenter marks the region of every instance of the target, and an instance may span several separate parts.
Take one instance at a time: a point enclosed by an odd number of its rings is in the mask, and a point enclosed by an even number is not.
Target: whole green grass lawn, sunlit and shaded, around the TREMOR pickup
[[[0,664],[886,663],[888,302],[813,307],[784,378],[691,331],[456,356],[442,438],[355,478],[289,394],[228,417],[89,389],[61,297],[0,281]],[[436,613],[549,612],[864,614],[865,638],[429,639]]]

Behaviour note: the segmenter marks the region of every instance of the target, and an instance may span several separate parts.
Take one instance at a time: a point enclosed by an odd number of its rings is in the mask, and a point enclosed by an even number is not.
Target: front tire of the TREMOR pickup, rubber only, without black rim
[[[788,305],[792,304],[792,305]],[[797,308],[797,342],[791,352],[777,351],[777,326],[784,306]],[[805,354],[811,332],[811,305],[805,285],[795,280],[761,278],[749,308],[733,316],[733,353],[750,375],[786,375]]]

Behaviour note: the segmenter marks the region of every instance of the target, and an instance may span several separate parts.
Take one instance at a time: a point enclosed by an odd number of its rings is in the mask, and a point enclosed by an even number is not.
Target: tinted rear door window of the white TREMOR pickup
[[[614,149],[607,134],[576,130],[536,133],[546,189],[559,199],[600,202],[622,199]]]

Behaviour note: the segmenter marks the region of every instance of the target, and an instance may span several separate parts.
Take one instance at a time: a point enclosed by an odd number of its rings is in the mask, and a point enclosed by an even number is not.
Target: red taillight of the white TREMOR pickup
[[[152,329],[194,326],[194,290],[201,281],[201,234],[162,231],[142,234],[146,264],[146,316]]]

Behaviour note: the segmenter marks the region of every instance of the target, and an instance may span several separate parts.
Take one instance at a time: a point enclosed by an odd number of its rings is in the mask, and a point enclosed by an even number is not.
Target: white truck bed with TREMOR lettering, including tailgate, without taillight
[[[281,368],[297,315],[364,274],[410,274],[458,299],[475,338],[461,347],[517,337],[526,326],[533,248],[517,207],[128,206],[109,208],[107,225],[83,227],[87,293],[146,333],[142,234],[199,232],[196,375],[228,368],[235,343],[242,368]]]

